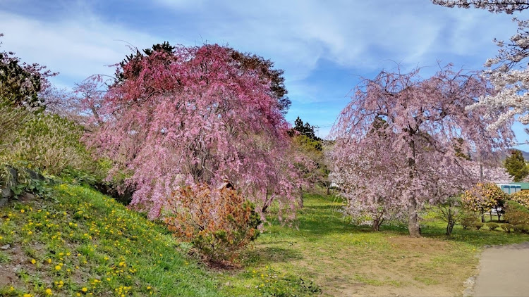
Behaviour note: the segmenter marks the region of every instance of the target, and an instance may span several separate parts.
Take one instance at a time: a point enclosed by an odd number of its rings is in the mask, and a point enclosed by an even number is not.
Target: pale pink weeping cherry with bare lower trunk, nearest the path
[[[451,65],[428,79],[416,69],[363,80],[332,129],[333,176],[344,194],[353,189],[360,204],[384,201],[389,209],[401,208],[410,235],[420,236],[418,213],[425,203],[479,180],[470,172],[471,154],[462,152],[487,156],[513,137],[506,126],[487,130],[494,121],[488,113],[466,110],[490,91],[481,77],[454,72]],[[370,133],[377,118],[384,125]]]

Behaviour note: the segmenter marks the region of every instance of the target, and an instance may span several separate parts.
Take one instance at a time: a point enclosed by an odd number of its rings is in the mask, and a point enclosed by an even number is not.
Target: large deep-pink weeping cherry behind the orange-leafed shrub
[[[131,56],[102,100],[94,97],[101,125],[92,144],[114,160],[111,175],[128,172],[132,203],[150,217],[183,185],[224,178],[257,210],[273,201],[294,210],[302,182],[294,164],[303,160],[271,80],[232,53],[215,44]]]

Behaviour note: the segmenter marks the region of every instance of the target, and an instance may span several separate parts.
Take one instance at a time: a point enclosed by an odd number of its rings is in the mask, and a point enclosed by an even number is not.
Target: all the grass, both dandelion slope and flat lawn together
[[[305,195],[293,227],[273,215],[240,267],[213,270],[162,225],[85,187],[0,208],[0,296],[457,296],[485,245],[525,234],[424,222],[356,227],[333,196]]]

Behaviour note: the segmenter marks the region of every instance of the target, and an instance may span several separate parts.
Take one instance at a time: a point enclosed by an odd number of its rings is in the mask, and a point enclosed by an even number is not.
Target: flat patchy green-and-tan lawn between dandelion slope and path
[[[426,223],[422,239],[408,238],[405,227],[374,233],[348,224],[340,206],[336,198],[305,195],[298,229],[277,222],[267,227],[243,254],[243,271],[221,276],[224,291],[310,296],[320,288],[329,296],[454,296],[475,273],[483,246],[529,241],[525,234],[461,227],[446,239],[444,223],[435,220]]]

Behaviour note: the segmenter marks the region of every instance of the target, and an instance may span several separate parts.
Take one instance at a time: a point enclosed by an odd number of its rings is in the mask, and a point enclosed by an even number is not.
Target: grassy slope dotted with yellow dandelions
[[[0,208],[0,296],[219,296],[162,226],[91,189],[54,199]]]

